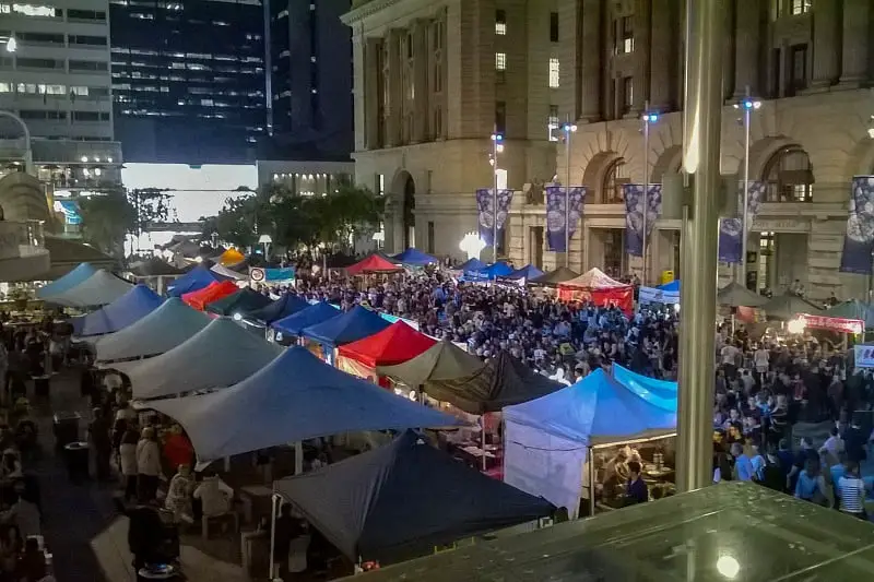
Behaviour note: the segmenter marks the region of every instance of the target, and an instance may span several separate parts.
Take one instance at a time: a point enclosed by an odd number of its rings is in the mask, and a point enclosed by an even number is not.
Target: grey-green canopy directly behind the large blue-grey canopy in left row
[[[157,399],[234,385],[281,353],[279,345],[218,318],[173,349],[119,369],[130,378],[134,399]]]

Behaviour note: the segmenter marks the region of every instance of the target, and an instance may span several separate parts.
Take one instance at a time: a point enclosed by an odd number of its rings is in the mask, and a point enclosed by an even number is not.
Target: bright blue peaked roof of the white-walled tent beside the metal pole
[[[586,446],[676,429],[676,412],[649,404],[601,368],[574,385],[504,408],[504,419]]]

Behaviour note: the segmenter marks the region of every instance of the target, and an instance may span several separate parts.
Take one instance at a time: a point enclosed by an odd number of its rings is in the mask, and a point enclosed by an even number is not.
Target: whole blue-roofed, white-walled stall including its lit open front
[[[504,423],[505,482],[566,508],[574,518],[581,504],[591,514],[595,501],[610,506],[621,499],[623,471],[616,465],[628,460],[626,443],[656,443],[641,459],[645,478],[671,475],[668,438],[676,430],[676,411],[649,404],[602,369],[504,408]]]

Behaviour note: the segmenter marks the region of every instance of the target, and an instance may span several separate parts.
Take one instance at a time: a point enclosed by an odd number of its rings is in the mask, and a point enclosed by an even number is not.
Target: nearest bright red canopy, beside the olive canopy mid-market
[[[408,361],[436,343],[436,340],[414,330],[403,321],[398,321],[378,333],[341,346],[338,351],[336,367],[389,388],[388,379],[377,373],[379,366]]]

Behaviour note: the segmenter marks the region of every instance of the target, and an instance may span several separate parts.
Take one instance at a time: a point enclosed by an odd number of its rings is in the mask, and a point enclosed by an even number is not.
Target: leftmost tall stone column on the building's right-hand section
[[[603,14],[601,0],[581,0],[582,25],[579,27],[580,54],[580,119],[587,121],[601,120],[602,78],[601,64],[604,46],[601,44],[601,26]]]

